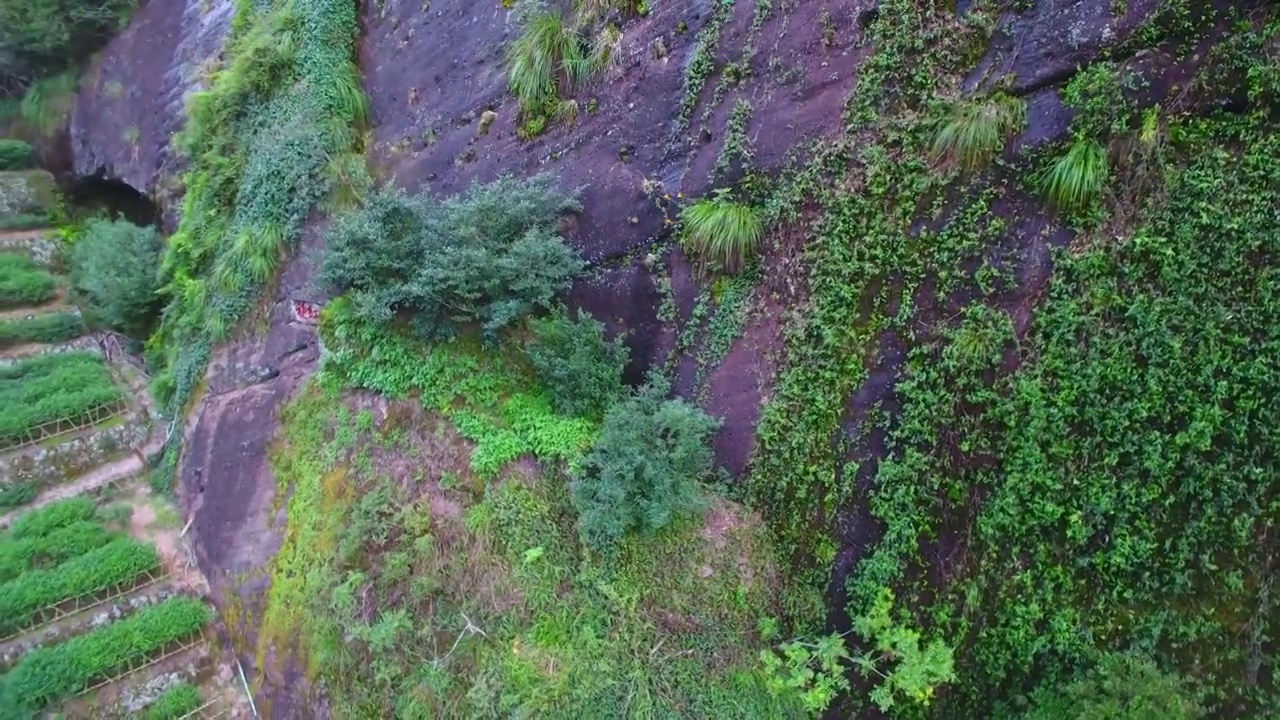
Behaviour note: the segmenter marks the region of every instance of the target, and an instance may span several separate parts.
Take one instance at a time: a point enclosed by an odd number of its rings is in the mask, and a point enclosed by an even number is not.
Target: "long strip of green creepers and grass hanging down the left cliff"
[[[351,0],[237,3],[224,65],[192,96],[178,138],[191,168],[160,269],[166,306],[147,342],[170,415],[187,410],[215,343],[252,314],[314,206],[342,206],[367,182],[357,32]],[[178,452],[170,446],[156,473],[161,489]]]

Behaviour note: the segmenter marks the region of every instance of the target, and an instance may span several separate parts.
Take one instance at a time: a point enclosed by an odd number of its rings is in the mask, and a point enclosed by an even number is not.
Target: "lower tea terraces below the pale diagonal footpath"
[[[243,716],[179,530],[120,491],[0,536],[0,719]]]

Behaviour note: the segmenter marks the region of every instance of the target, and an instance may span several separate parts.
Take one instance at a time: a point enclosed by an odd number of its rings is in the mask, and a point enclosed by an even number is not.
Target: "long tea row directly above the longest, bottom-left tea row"
[[[28,626],[55,602],[105,591],[157,566],[152,546],[119,538],[49,570],[31,570],[0,585],[0,634]]]

